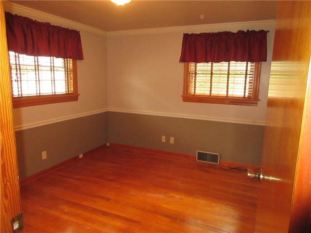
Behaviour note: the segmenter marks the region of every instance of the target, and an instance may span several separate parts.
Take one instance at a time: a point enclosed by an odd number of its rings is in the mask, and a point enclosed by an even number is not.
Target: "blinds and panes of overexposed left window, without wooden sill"
[[[13,97],[73,92],[72,59],[27,56],[11,51],[9,55]]]

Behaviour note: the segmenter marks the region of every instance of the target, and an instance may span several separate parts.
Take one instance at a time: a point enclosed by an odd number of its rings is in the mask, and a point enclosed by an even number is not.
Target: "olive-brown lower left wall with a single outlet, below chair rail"
[[[104,145],[107,132],[107,112],[17,131],[19,179]]]

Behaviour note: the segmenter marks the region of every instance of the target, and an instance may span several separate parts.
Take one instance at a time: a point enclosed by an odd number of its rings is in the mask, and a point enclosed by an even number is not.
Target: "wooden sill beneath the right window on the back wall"
[[[232,104],[257,106],[259,99],[243,99],[243,98],[227,98],[227,97],[207,97],[207,96],[188,96],[182,95],[183,102],[197,103],[216,103],[216,104]]]

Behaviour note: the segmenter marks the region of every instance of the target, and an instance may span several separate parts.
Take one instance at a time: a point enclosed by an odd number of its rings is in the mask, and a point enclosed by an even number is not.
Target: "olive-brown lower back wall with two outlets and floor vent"
[[[190,155],[203,150],[220,153],[224,161],[261,163],[264,126],[119,112],[108,112],[108,122],[109,142]]]

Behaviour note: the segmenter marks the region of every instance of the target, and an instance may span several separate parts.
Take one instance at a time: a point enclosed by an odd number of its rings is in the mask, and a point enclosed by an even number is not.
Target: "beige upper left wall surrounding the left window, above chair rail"
[[[78,61],[79,100],[14,109],[16,130],[107,110],[107,43],[100,30],[5,2],[5,11],[80,31],[84,60]]]

